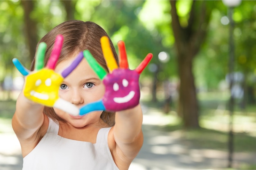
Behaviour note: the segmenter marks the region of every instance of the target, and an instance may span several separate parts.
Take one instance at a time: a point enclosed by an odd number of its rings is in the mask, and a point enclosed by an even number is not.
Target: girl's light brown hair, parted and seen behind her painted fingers
[[[94,58],[108,71],[106,62],[103,57],[101,50],[100,38],[102,36],[107,36],[108,34],[104,31],[101,26],[95,24],[94,22],[83,22],[80,20],[70,20],[63,22],[47,33],[39,42],[45,42],[47,44],[47,49],[45,53],[45,65],[49,60],[50,54],[52,52],[55,38],[57,35],[63,35],[64,42],[61,50],[61,55],[58,62],[61,62],[75,53],[79,53],[84,50],[89,50]],[[109,37],[108,37],[109,38]],[[115,51],[114,45],[110,40],[110,46],[118,63],[118,56]],[[34,70],[35,59],[31,63],[31,70]],[[55,113],[53,108],[45,107],[44,114],[53,119],[54,121],[63,121],[61,117]],[[115,124],[115,113],[103,111],[101,113],[101,119],[108,124],[108,126],[114,126]]]

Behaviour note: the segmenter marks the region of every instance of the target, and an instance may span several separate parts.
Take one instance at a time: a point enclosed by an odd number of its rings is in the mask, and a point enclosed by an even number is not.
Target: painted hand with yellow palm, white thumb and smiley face
[[[61,99],[58,91],[63,79],[69,75],[83,59],[83,53],[79,53],[76,59],[66,67],[61,74],[54,72],[56,62],[61,53],[63,36],[58,35],[47,65],[44,68],[46,44],[41,42],[38,46],[35,60],[35,71],[28,71],[18,59],[13,59],[13,64],[18,71],[26,76],[24,95],[36,103],[61,109],[72,115],[79,115],[79,108],[70,102]]]

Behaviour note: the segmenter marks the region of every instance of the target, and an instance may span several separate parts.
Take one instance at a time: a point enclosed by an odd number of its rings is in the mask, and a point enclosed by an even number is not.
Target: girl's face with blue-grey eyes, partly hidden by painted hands
[[[55,71],[61,73],[76,56],[77,54],[60,62],[56,66]],[[59,88],[59,97],[76,105],[78,108],[101,99],[104,93],[105,87],[103,83],[84,58],[74,71],[63,80],[63,84]],[[59,117],[65,119],[76,128],[82,128],[86,125],[97,125],[102,113],[102,111],[94,111],[84,116],[74,117],[62,110],[56,108],[54,110]]]

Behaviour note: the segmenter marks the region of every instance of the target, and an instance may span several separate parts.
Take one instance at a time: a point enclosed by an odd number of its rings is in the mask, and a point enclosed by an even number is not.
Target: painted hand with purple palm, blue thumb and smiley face
[[[120,57],[119,68],[111,51],[108,38],[105,36],[101,38],[101,48],[110,73],[107,73],[97,63],[88,50],[83,52],[85,59],[92,69],[103,80],[106,91],[101,100],[86,104],[80,108],[79,115],[84,115],[94,110],[114,112],[126,110],[139,104],[139,75],[150,62],[153,55],[149,53],[135,70],[130,70],[124,42],[119,41],[117,45]]]

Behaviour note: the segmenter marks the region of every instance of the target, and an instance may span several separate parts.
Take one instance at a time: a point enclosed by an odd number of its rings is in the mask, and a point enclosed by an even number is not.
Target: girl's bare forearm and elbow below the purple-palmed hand
[[[119,169],[128,169],[143,144],[142,110],[137,105],[132,109],[119,111],[115,126],[108,135],[108,144]]]

